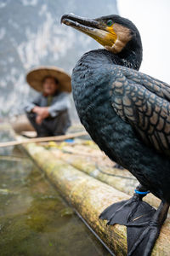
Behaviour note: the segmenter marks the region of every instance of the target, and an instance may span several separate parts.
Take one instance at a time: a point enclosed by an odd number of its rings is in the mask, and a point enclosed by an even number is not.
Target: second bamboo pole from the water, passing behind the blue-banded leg
[[[74,166],[78,170],[99,179],[99,181],[104,182],[127,195],[132,196],[134,189],[139,184],[138,180],[125,169],[119,170],[117,168],[105,168],[105,171],[103,171],[99,164],[96,165],[92,155],[92,159],[87,159],[87,157],[80,156],[79,154],[58,154],[56,149],[52,149],[52,153],[61,160],[65,160],[68,164]],[[153,207],[159,207],[161,203],[161,201],[152,194],[145,196],[144,201],[147,201]]]

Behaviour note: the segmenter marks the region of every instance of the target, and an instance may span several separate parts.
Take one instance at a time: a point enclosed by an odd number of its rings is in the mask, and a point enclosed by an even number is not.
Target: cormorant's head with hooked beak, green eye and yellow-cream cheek
[[[76,15],[63,15],[61,23],[72,26],[94,38],[105,49],[119,54],[123,49],[134,47],[142,50],[139,31],[133,22],[119,15],[108,15],[97,19],[86,19]]]

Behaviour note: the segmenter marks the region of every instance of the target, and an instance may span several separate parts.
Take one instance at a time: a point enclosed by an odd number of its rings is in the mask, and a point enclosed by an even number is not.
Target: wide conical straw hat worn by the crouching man
[[[42,81],[53,77],[59,81],[59,90],[71,92],[71,77],[59,67],[37,67],[26,75],[26,81],[35,90],[42,91]]]

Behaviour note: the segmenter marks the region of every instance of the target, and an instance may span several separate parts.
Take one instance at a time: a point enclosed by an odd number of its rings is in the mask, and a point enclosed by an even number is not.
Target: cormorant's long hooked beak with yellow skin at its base
[[[94,38],[99,44],[105,48],[112,48],[116,43],[116,32],[113,25],[106,26],[105,22],[99,19],[86,19],[76,15],[63,15],[61,23],[72,26],[80,32],[83,32]]]

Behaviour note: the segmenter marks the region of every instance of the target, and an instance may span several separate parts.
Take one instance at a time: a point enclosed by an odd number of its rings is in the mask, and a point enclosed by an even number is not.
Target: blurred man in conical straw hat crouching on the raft
[[[58,67],[38,67],[27,73],[26,80],[32,88],[41,91],[25,107],[26,115],[37,131],[37,137],[65,134],[71,125],[71,77]]]

